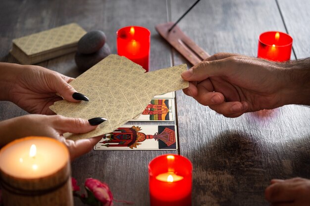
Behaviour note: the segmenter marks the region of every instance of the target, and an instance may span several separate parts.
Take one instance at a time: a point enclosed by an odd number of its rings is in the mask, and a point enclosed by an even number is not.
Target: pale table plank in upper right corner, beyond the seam
[[[278,0],[288,33],[293,38],[296,57],[310,57],[310,1]]]

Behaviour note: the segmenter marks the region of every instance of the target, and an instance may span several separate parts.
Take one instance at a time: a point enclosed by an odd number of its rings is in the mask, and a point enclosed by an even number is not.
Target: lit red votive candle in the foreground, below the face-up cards
[[[149,164],[151,206],[192,205],[192,164],[180,155],[161,155]]]

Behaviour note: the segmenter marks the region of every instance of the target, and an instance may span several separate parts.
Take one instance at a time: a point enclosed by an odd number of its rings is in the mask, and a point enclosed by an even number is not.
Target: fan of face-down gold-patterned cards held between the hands
[[[89,102],[61,100],[50,108],[65,117],[107,119],[91,132],[66,133],[66,138],[76,140],[107,134],[140,115],[155,95],[187,88],[189,83],[181,78],[186,70],[183,64],[145,73],[126,57],[111,54],[70,82]]]

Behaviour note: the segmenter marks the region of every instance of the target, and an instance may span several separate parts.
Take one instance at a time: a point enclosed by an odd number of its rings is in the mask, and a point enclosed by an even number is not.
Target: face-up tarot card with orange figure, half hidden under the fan
[[[173,122],[174,99],[152,99],[141,115],[130,122]]]

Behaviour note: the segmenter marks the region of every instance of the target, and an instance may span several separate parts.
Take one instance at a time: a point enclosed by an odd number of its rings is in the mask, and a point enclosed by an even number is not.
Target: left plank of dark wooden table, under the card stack
[[[50,29],[52,27],[77,22],[86,31],[102,30],[112,53],[116,53],[116,31],[124,26],[139,25],[151,31],[150,70],[169,67],[170,47],[157,36],[155,24],[167,21],[165,0],[75,0],[49,1],[35,0],[13,3],[1,1],[1,11],[7,12],[7,30],[1,30],[1,61],[16,62],[8,54],[11,40],[16,37]],[[5,8],[5,9],[4,9]],[[156,9],[154,9],[156,8]],[[1,28],[5,22],[1,21]],[[2,38],[5,37],[6,38]],[[17,63],[17,62],[16,62]],[[74,63],[74,54],[64,55],[39,64],[64,75],[77,77],[80,73]],[[0,103],[1,120],[26,114],[23,110],[7,102]],[[132,123],[133,124],[133,123]],[[72,176],[80,185],[88,177],[105,181],[118,200],[135,202],[136,206],[149,204],[148,163],[158,155],[177,151],[92,151],[72,163]],[[83,187],[82,187],[83,190]],[[85,191],[82,191],[85,193]],[[75,199],[76,206],[83,204]],[[115,203],[123,205],[122,203]]]

